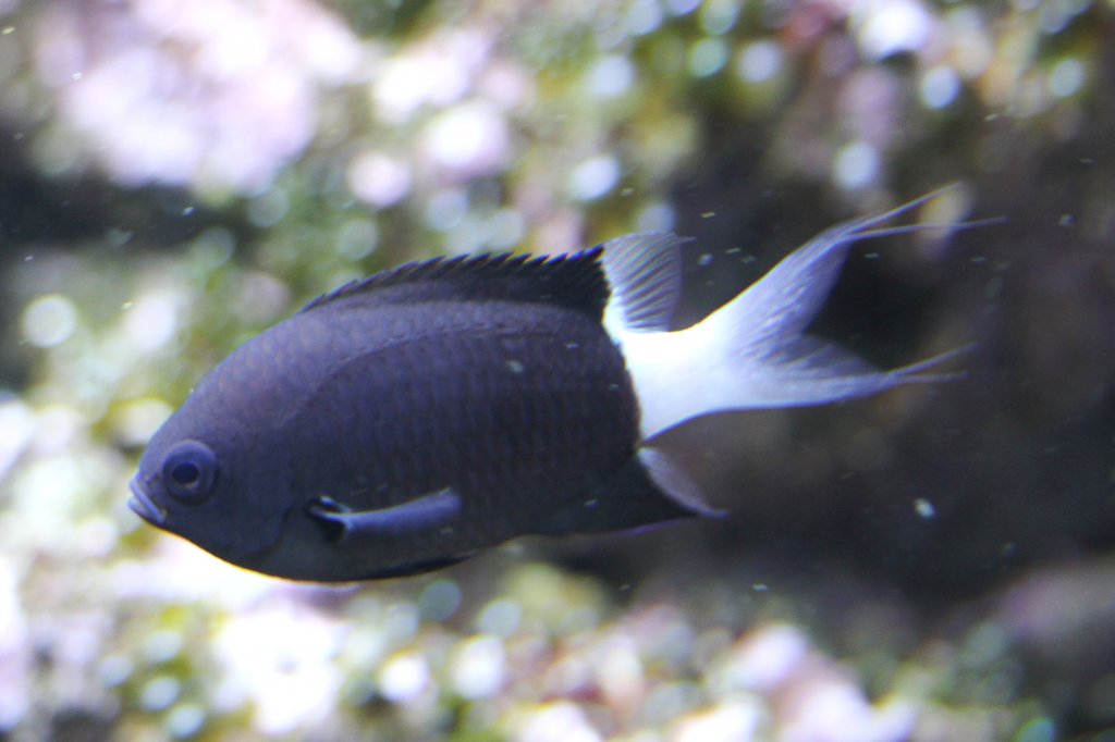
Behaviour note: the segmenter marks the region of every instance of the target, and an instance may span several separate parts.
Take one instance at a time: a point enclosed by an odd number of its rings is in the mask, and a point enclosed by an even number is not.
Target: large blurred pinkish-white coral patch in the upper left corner
[[[362,57],[308,0],[57,0],[31,23],[59,124],[125,186],[268,187],[317,133],[318,88]]]

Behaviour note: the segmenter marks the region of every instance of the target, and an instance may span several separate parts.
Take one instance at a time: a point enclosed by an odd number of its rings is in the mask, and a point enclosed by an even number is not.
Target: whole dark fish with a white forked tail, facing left
[[[426,573],[527,536],[717,517],[656,438],[716,412],[939,382],[806,332],[857,241],[831,227],[673,329],[686,238],[475,254],[348,283],[250,339],[143,452],[128,506],[233,565],[321,583]]]

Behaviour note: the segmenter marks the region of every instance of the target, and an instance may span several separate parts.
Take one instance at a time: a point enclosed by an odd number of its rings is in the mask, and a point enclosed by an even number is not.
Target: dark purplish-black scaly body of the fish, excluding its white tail
[[[230,462],[246,447],[249,465],[222,466],[222,478],[266,499],[192,506],[200,517],[177,533],[269,574],[359,579],[425,570],[522,534],[690,515],[658,492],[636,459],[638,400],[601,323],[608,286],[599,253],[525,269],[521,260],[482,258],[429,280],[353,287],[245,343],[151,450],[190,429],[229,424],[210,437],[231,438],[227,450],[209,447]],[[501,280],[501,266],[522,275]],[[554,289],[562,302],[551,299]],[[237,421],[255,424],[239,429]],[[602,505],[610,488],[624,495],[611,507]],[[404,519],[374,538],[307,515],[321,498],[363,512],[446,489],[459,497],[452,524]],[[280,500],[279,492],[293,496]],[[281,515],[260,519],[260,509]],[[337,548],[277,548],[284,538]],[[268,546],[252,549],[258,543]]]

